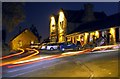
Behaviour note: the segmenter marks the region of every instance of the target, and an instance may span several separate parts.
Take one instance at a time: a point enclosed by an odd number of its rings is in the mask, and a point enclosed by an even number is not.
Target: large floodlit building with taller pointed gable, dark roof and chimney
[[[56,34],[54,36],[50,31],[51,42],[79,41],[84,46],[99,41],[102,37],[105,37],[106,44],[120,41],[120,13],[107,16],[104,12],[95,12],[92,4],[85,4],[84,10],[60,9],[54,17]],[[50,25],[50,28],[53,27]]]

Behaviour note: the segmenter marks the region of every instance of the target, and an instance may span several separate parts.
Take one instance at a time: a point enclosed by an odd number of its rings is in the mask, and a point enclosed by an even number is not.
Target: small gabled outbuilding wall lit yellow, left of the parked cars
[[[20,47],[29,46],[31,42],[38,42],[38,38],[29,30],[25,30],[11,41],[11,48],[17,50]]]

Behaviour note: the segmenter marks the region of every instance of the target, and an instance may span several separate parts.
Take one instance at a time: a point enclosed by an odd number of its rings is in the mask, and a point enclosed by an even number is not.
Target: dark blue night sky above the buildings
[[[60,8],[67,10],[81,10],[84,8],[83,2],[27,2],[25,3],[26,19],[20,26],[29,27],[34,24],[37,27],[39,34],[42,38],[49,36],[49,18],[52,13],[57,14]],[[94,3],[94,11],[104,11],[107,15],[112,15],[118,12],[118,3]]]

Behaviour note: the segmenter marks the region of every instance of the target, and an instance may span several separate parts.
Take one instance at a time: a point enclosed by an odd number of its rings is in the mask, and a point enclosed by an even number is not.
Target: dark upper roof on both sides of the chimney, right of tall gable
[[[82,18],[85,16],[85,10],[64,10],[65,17],[68,22],[80,23]],[[94,16],[97,20],[106,18],[104,12],[94,12]]]

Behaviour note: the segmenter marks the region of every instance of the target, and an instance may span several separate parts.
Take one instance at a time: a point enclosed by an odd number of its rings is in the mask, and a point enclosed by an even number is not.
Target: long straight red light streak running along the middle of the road
[[[37,62],[40,62],[40,61],[52,60],[52,59],[56,59],[56,58],[67,57],[67,56],[77,55],[77,54],[83,54],[83,53],[87,53],[87,52],[90,52],[90,51],[91,51],[90,49],[86,49],[84,51],[76,52],[76,53],[73,53],[73,54],[71,54],[71,52],[67,53],[66,55],[65,54],[58,54],[58,55],[54,55],[54,56],[50,56],[50,57],[46,57],[46,58],[41,58],[41,59],[38,59],[38,60],[33,59],[34,61],[26,62],[26,63],[24,63],[24,61],[20,61],[20,62],[16,62],[16,63],[21,63],[21,64],[14,63],[14,65],[7,66],[7,67],[8,68],[13,68],[13,67],[17,67],[17,66],[23,66],[23,65],[37,63]]]

